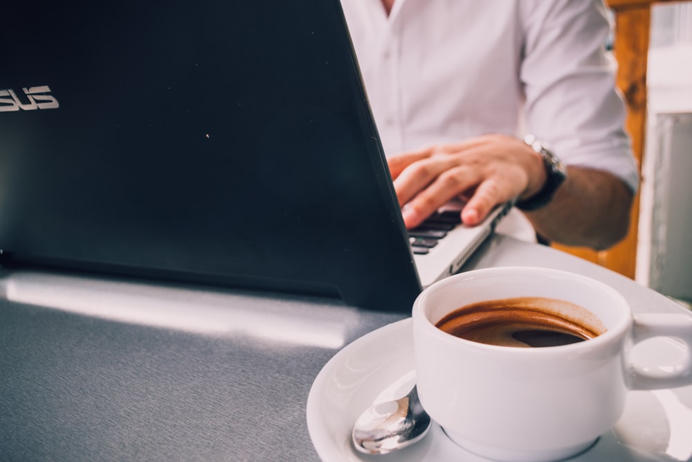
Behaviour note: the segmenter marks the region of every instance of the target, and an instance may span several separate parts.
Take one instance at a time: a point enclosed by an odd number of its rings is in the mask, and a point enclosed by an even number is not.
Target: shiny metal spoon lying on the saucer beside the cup
[[[353,426],[352,439],[358,452],[387,454],[420,441],[430,423],[413,387],[403,398],[366,409]]]

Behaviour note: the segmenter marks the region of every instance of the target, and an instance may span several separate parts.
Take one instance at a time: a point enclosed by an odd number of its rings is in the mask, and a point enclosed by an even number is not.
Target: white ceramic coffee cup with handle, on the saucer
[[[518,348],[435,327],[471,303],[518,296],[575,303],[607,331],[576,344]],[[628,390],[692,383],[692,314],[633,317],[619,292],[579,274],[533,267],[457,274],[421,292],[412,318],[421,404],[455,443],[489,459],[540,462],[578,454],[617,422]],[[653,369],[632,364],[632,346],[657,336],[686,343],[682,362]]]

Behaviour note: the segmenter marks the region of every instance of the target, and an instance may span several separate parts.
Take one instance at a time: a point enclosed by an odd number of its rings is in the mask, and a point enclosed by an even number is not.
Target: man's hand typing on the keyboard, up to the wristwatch
[[[468,201],[462,221],[473,226],[495,205],[531,197],[545,183],[540,155],[503,134],[399,154],[388,163],[408,229],[455,197]]]

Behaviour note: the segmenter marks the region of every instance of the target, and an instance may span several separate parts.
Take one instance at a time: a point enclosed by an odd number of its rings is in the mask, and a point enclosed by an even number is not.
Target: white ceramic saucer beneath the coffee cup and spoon
[[[376,402],[400,398],[415,382],[411,320],[374,330],[340,350],[322,368],[307,400],[307,427],[325,462],[487,461],[455,445],[433,424],[423,441],[399,452],[367,456],[354,450],[351,427]],[[637,358],[677,355],[680,346],[652,339]],[[692,387],[632,391],[622,418],[573,462],[692,461]]]

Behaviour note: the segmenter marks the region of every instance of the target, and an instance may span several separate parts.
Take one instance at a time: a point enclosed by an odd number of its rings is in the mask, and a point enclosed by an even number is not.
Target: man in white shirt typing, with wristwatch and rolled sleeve
[[[465,196],[467,224],[516,198],[548,240],[625,236],[637,167],[601,0],[342,4],[408,228]]]

